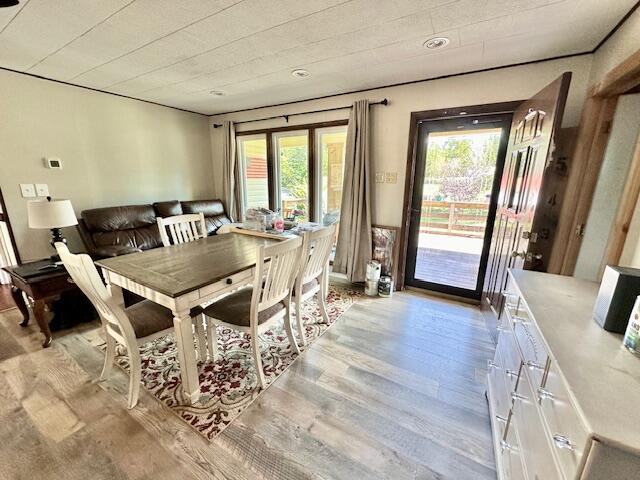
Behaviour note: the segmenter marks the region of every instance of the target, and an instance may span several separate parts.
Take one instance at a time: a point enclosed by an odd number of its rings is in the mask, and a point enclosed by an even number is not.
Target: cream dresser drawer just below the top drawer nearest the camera
[[[527,373],[524,371],[518,382],[512,407],[526,475],[530,479],[561,479]]]

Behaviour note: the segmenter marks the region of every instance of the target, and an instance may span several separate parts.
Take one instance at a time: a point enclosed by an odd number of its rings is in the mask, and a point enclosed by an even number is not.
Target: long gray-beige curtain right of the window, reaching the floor
[[[333,271],[363,282],[371,260],[371,155],[369,101],[353,104],[347,129],[340,229]]]

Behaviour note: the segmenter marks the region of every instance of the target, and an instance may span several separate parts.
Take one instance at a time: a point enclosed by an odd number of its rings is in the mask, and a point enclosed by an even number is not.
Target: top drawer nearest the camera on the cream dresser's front
[[[536,395],[560,467],[567,478],[574,478],[585,452],[588,434],[553,365],[550,365]]]

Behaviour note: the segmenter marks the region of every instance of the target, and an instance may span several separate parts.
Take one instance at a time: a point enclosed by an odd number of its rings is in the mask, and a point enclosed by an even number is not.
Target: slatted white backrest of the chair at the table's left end
[[[91,257],[73,254],[61,242],[57,242],[55,247],[67,272],[97,310],[107,333],[127,349],[133,348],[136,337],[129,317],[105,287]]]

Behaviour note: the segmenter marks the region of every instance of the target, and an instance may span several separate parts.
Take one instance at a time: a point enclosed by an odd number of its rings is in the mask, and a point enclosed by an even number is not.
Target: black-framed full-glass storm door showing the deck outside
[[[405,285],[479,300],[511,114],[418,130]]]

